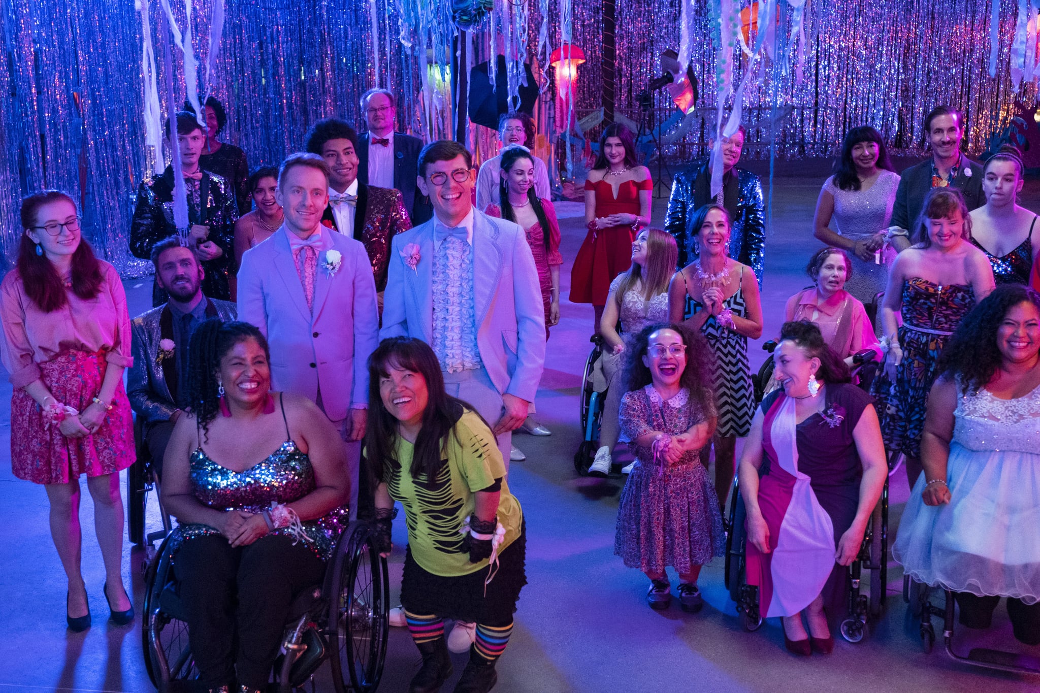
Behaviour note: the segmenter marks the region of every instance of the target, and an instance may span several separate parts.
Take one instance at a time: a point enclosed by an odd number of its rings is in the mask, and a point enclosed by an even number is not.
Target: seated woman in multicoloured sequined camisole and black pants
[[[270,676],[289,605],[321,584],[346,526],[345,452],[313,402],[270,392],[256,327],[207,320],[190,348],[191,408],[162,475],[181,524],[174,570],[202,684],[228,691],[237,678],[253,693]]]

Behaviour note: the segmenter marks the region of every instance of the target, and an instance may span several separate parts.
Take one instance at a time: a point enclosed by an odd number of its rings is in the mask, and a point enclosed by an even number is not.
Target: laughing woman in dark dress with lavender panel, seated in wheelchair
[[[847,604],[846,566],[881,498],[885,449],[870,396],[820,327],[785,322],[774,353],[781,388],[762,400],[740,456],[748,584],[763,617],[783,617],[788,650],[828,654],[824,609]]]

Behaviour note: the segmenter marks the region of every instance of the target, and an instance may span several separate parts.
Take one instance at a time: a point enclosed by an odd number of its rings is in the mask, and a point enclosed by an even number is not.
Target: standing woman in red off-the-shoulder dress
[[[650,169],[635,159],[632,131],[603,128],[599,154],[586,180],[586,236],[571,268],[571,302],[592,303],[599,332],[610,282],[631,264],[632,241],[650,225]]]

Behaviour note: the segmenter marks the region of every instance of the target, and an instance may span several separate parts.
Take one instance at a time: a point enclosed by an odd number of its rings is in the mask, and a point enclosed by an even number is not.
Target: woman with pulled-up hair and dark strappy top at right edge
[[[997,286],[1029,285],[1040,243],[1033,242],[1037,215],[1016,202],[1023,183],[1018,150],[1002,146],[986,162],[982,176],[986,204],[971,210],[971,242],[986,254]]]

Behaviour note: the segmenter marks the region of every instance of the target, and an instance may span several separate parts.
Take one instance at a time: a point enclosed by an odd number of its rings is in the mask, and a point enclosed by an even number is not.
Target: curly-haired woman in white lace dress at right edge
[[[892,554],[914,580],[957,592],[988,628],[1008,597],[1015,638],[1040,644],[1040,296],[998,287],[954,332],[932,389],[925,474]]]

